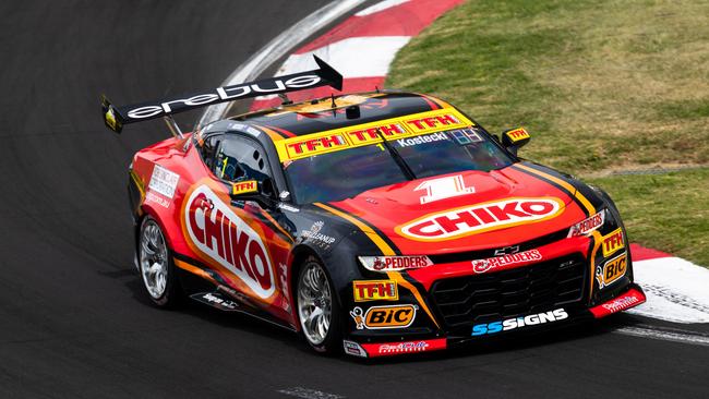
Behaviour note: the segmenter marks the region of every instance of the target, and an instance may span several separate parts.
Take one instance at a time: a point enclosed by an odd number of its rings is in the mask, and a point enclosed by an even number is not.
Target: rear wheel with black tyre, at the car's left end
[[[137,265],[143,288],[158,307],[175,307],[182,301],[172,253],[160,225],[151,216],[141,222],[137,237]]]

